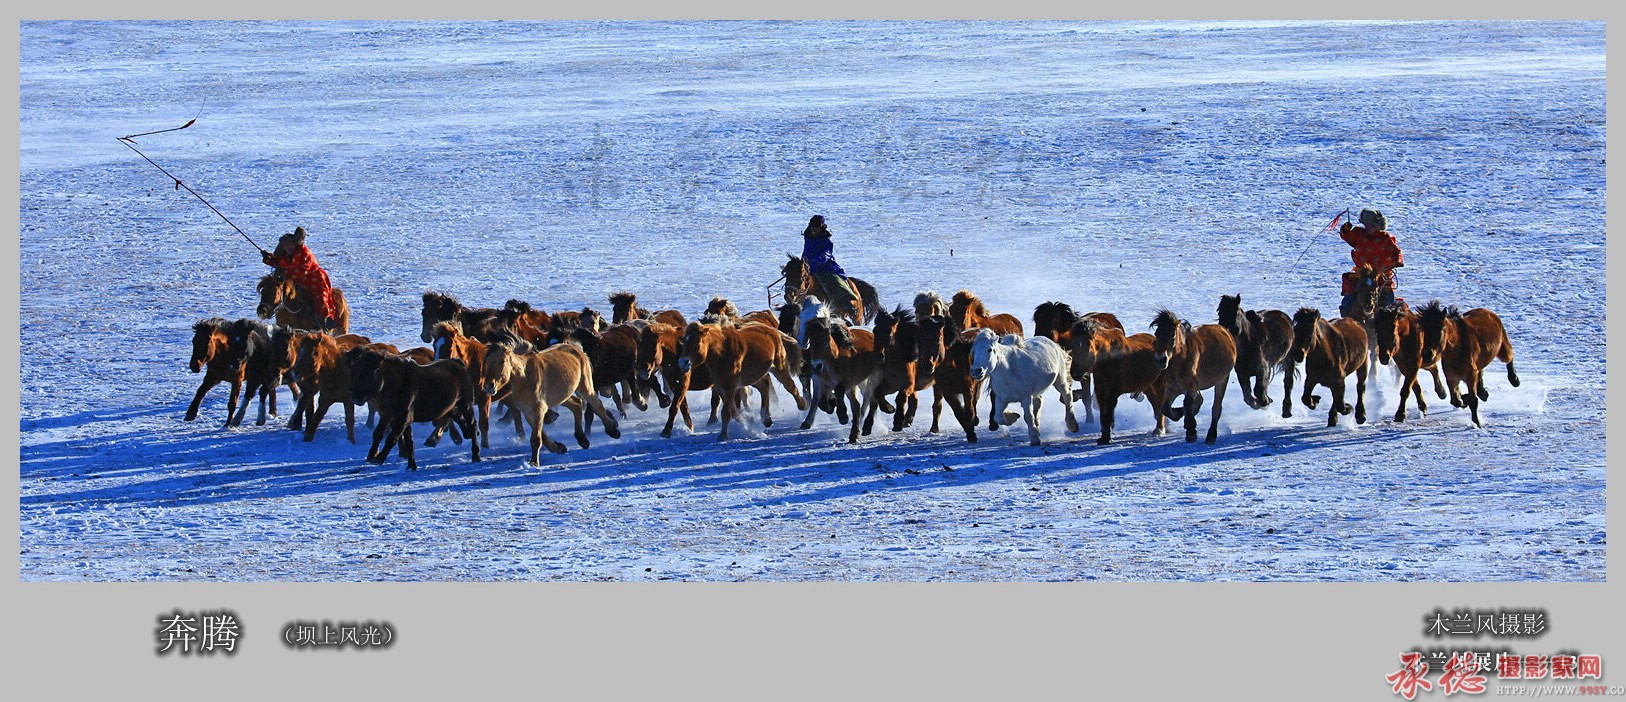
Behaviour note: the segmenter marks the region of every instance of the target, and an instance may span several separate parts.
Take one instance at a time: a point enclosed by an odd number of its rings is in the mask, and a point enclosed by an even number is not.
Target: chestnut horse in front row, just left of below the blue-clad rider
[[[774,327],[766,325],[702,325],[689,322],[680,343],[678,369],[693,370],[698,367],[711,370],[712,385],[722,395],[722,434],[728,439],[728,426],[735,418],[733,398],[740,390],[754,387],[763,393],[763,427],[774,424],[767,403],[774,395],[772,377],[795,393],[790,379],[790,367],[785,359],[784,336]],[[805,400],[797,395],[797,410],[806,408]]]

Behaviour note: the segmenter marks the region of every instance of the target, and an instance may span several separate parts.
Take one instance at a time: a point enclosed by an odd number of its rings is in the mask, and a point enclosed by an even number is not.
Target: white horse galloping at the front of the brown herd
[[[1028,439],[1039,445],[1039,396],[1046,388],[1055,388],[1067,408],[1067,431],[1078,431],[1078,418],[1073,416],[1072,403],[1072,369],[1068,353],[1046,336],[1034,336],[1023,341],[1021,336],[998,336],[992,330],[977,330],[977,338],[971,343],[971,379],[987,382],[990,392],[990,408],[995,416],[1003,414],[1005,424],[1015,424],[1016,414],[1005,413],[1010,403],[1023,398],[1023,419],[1028,421]]]

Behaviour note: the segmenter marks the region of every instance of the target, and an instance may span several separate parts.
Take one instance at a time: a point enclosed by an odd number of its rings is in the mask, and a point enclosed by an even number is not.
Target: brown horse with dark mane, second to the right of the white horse
[[[1171,419],[1185,416],[1185,440],[1197,440],[1197,410],[1203,406],[1203,390],[1215,388],[1215,406],[1208,413],[1208,437],[1213,444],[1220,436],[1220,413],[1224,392],[1231,385],[1236,367],[1236,341],[1231,332],[1220,325],[1202,325],[1195,330],[1169,310],[1158,310],[1151,320],[1151,359],[1163,370],[1163,413]],[[1171,414],[1169,405],[1176,395],[1185,396],[1179,413]]]

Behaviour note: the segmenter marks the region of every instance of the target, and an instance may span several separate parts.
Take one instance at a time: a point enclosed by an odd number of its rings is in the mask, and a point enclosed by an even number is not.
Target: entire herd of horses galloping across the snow
[[[631,292],[610,296],[610,320],[590,307],[550,314],[517,299],[502,307],[465,307],[449,294],[424,292],[420,338],[428,346],[406,351],[348,333],[350,309],[338,289],[338,328],[309,332],[320,325],[298,286],[272,273],[259,284],[259,318],[213,317],[193,325],[190,369],[203,372],[203,384],[185,419],[197,419],[205,393],[228,382],[226,426],[242,422],[255,395],[263,424],[268,411],[276,414],[278,385],[288,385],[296,398],[288,427],[304,431],[306,440],[315,437],[332,405],[343,405],[345,431],[354,442],[354,411],[366,406],[367,426],[374,426],[367,460],[382,463],[398,447],[408,468],[416,468],[413,424],[433,426],[424,445],[447,431],[457,442],[467,439],[478,462],[480,448],[491,447],[493,405],[507,408],[499,424],[512,421],[517,434],[528,436],[532,463],[540,463],[543,447],[566,452],[545,431],[556,408],[574,414],[576,440],[587,448],[595,418],[606,436],[620,437],[618,416],[626,418],[626,405],[649,410],[650,395],[667,410],[660,434],[670,437],[680,413],[694,429],[688,393],[711,390],[711,421],[717,422],[720,411],[720,437],[728,439],[750,400],[746,388],[758,390],[761,424],[772,424],[774,382],[806,413],[802,429],[820,413],[834,414],[849,424],[849,442],[872,432],[878,411],[893,416],[893,431],[911,426],[917,393],[932,388],[932,432],[940,431],[946,403],[966,440],[976,442],[976,406],[989,395],[989,429],[1023,418],[1034,445],[1041,395],[1049,390],[1055,390],[1072,432],[1080,431],[1075,400],[1083,403],[1086,422],[1096,421],[1099,408],[1098,442],[1107,444],[1125,395],[1151,403],[1158,436],[1174,419],[1184,421],[1185,440],[1197,440],[1202,392],[1213,388],[1206,434],[1213,444],[1233,374],[1242,401],[1254,410],[1275,403],[1268,388],[1280,374],[1283,418],[1293,416],[1296,377],[1302,377],[1301,403],[1309,410],[1320,403],[1312,390],[1327,387],[1327,426],[1340,414],[1366,422],[1374,354],[1400,370],[1397,422],[1406,419],[1408,395],[1419,414],[1428,411],[1419,370],[1431,374],[1439,398],[1467,406],[1476,426],[1480,401],[1489,398],[1483,369],[1491,361],[1506,362],[1507,380],[1519,385],[1512,344],[1494,312],[1459,312],[1437,301],[1416,310],[1403,301],[1384,307],[1372,271],[1361,271],[1353,317],[1328,320],[1311,307],[1293,315],[1246,310],[1241,296],[1221,296],[1216,323],[1193,325],[1159,310],[1151,333],[1128,333],[1112,314],[1044,302],[1033,312],[1033,335],[1024,338],[1018,317],[990,314],[964,289],[948,302],[920,292],[912,309],[886,310],[865,283],[865,299],[831,310],[798,263],[792,257],[785,266],[784,306],[740,314],[733,302],[715,297],[693,322],[675,309],[647,310]],[[273,317],[275,323],[262,322]],[[870,328],[860,328],[865,325]],[[1353,406],[1346,401],[1350,375],[1356,379]],[[616,411],[606,411],[600,396]],[[1006,411],[1010,403],[1018,403],[1021,414]]]

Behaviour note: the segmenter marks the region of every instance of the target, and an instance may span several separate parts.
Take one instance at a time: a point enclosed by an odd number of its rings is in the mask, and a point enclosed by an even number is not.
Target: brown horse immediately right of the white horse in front
[[[1112,427],[1117,422],[1117,403],[1124,395],[1145,393],[1151,401],[1158,427],[1156,434],[1166,434],[1164,427],[1164,384],[1163,367],[1156,361],[1156,338],[1150,333],[1125,336],[1122,328],[1107,327],[1099,320],[1083,320],[1073,325],[1073,361],[1083,362],[1089,377],[1094,379],[1096,403],[1101,405],[1101,439],[1096,444],[1112,442]]]

